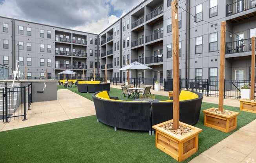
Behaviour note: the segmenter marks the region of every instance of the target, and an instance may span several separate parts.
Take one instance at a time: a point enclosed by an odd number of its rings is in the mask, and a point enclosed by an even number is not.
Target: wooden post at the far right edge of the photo
[[[254,100],[255,87],[255,37],[252,37],[252,67],[251,67],[251,99]]]

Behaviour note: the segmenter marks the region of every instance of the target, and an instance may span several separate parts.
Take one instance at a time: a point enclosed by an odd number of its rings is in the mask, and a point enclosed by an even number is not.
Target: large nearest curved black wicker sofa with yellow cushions
[[[180,101],[180,120],[189,125],[195,125],[199,120],[203,100],[202,94],[193,93],[197,98],[192,100],[183,98],[183,101]],[[122,101],[109,97],[107,91],[96,92],[92,98],[97,120],[115,129],[141,130],[151,133],[153,125],[172,119],[171,100],[152,103]]]

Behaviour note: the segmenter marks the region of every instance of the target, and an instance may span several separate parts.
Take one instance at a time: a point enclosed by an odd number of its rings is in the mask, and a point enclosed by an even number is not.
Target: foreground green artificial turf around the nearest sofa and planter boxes
[[[201,110],[217,106],[202,103]],[[237,107],[224,108],[240,112]],[[241,112],[237,129],[255,119],[256,114]],[[201,112],[195,125],[203,129],[199,134],[199,150],[184,162],[232,134],[205,127],[203,120]],[[177,162],[155,148],[155,136],[150,136],[148,132],[122,129],[115,132],[113,127],[97,123],[96,116],[0,132],[0,144],[1,163]]]

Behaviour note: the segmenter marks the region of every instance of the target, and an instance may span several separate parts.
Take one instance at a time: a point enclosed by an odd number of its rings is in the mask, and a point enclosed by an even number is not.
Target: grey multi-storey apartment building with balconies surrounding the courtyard
[[[100,77],[107,74],[108,78],[116,77],[123,82],[127,72],[119,69],[134,61],[153,68],[139,71],[140,78],[172,78],[171,1],[144,0],[100,34],[0,18],[0,57],[14,69],[13,63],[18,59],[16,44],[23,42],[23,50],[20,50],[23,65],[19,58],[21,71],[34,73],[32,78],[45,76],[46,72],[51,73],[48,78],[57,78],[57,73],[64,69],[78,72],[77,77],[82,72],[90,77],[95,67]],[[181,78],[218,79],[219,24],[227,21],[225,79],[250,79],[256,0],[179,0],[178,5]],[[24,34],[19,34],[22,29]],[[40,37],[43,31],[44,37]],[[48,38],[48,31],[51,31],[51,38]],[[30,45],[31,51],[27,51]],[[51,52],[48,52],[48,45]],[[29,58],[32,66],[27,65]],[[135,72],[131,71],[130,77],[135,77]]]

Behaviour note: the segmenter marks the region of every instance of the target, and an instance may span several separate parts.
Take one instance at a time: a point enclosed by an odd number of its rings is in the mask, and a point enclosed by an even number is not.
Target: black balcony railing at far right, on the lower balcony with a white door
[[[243,53],[252,50],[251,38],[226,43],[226,54]]]

